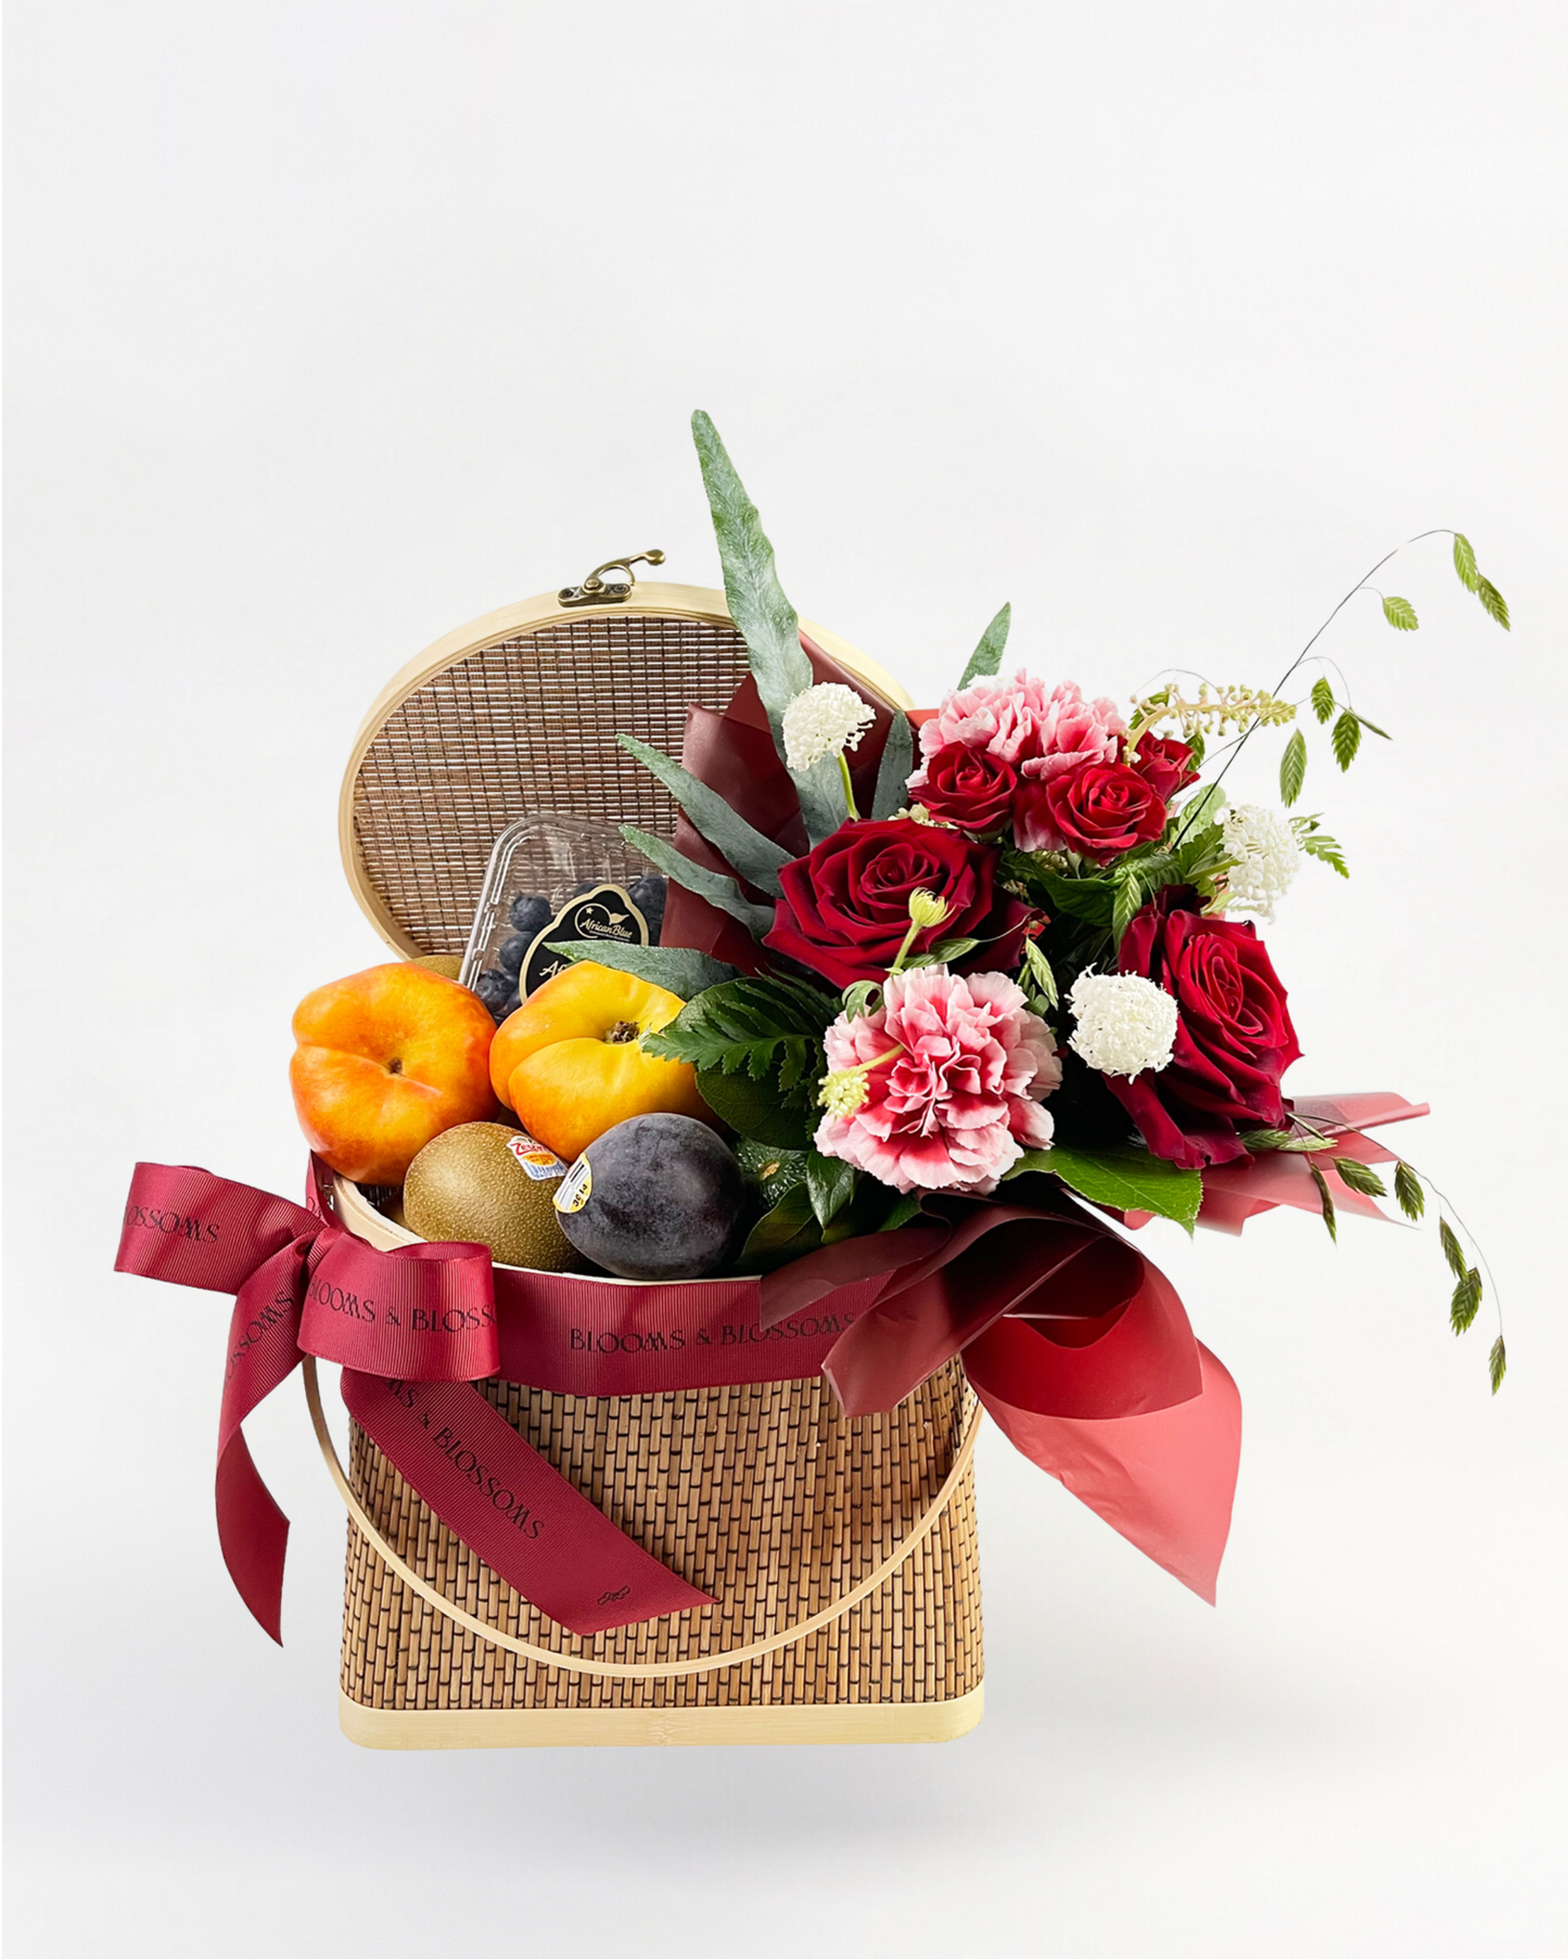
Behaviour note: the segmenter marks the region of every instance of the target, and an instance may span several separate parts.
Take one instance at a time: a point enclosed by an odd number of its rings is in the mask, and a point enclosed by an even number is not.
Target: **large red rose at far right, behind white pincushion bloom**
[[[1301,1054],[1254,927],[1205,919],[1190,885],[1168,885],[1121,934],[1121,970],[1172,995],[1176,1052],[1158,1074],[1105,1075],[1105,1087],[1154,1156],[1182,1170],[1245,1156],[1237,1124],[1284,1123],[1280,1075]]]

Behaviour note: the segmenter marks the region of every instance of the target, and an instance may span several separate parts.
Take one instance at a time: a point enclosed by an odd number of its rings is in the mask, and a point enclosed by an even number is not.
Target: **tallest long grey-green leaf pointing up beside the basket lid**
[[[800,645],[800,619],[784,597],[774,570],[772,545],[762,531],[757,505],[719,441],[719,431],[698,409],[692,415],[692,439],[698,445],[702,482],[713,515],[713,537],[723,564],[723,594],[729,617],[747,643],[757,692],[768,711],[772,744],[784,760],[784,709],[811,686],[811,662]],[[813,842],[831,836],[843,823],[843,789],[839,764],[831,756],[796,776],[800,809]]]

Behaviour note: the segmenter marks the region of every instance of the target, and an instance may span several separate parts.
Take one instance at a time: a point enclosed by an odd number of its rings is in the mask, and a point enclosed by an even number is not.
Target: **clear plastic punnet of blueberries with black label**
[[[551,938],[659,944],[664,891],[608,823],[521,817],[490,852],[459,980],[502,1021],[566,964]]]

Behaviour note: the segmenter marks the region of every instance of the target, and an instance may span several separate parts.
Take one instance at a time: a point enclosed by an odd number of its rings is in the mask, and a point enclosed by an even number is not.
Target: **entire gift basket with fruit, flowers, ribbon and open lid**
[[[1303,725],[1341,768],[1382,735],[1327,674],[1288,695],[1311,646],[1123,711],[1004,674],[1004,607],[917,711],[798,621],[694,427],[723,597],[617,560],[372,707],[343,848],[402,956],[296,1011],[306,1203],[143,1164],[125,1211],[120,1269],[235,1295],[220,1536],[274,1638],[288,1526],[241,1424],[304,1367],[370,1745],[964,1732],[982,1409],[1213,1599],[1239,1395],[1137,1232],[1337,1232],[1378,1166],[1425,1213],[1370,1134],[1421,1107],[1284,1089],[1258,923],[1303,862],[1347,874],[1292,813]],[[1270,731],[1280,807],[1227,803]]]

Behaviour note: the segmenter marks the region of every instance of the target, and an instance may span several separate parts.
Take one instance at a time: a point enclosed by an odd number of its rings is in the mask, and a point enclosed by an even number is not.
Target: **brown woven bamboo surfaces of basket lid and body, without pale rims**
[[[721,599],[713,596],[721,609]],[[425,952],[461,952],[494,838],[529,811],[670,835],[674,805],[617,729],[680,752],[686,707],[747,674],[723,617],[555,615],[423,678],[353,784],[367,882]],[[353,1426],[349,1477],[427,1583],[502,1632],[608,1661],[698,1659],[829,1606],[925,1514],[968,1389],[953,1363],[886,1416],[845,1418],[821,1381],[590,1399],[492,1381],[500,1412],[713,1610],[576,1640],[468,1552]],[[825,1630],[735,1667],[604,1679],[523,1659],[412,1593],[349,1524],[341,1685],[367,1708],[661,1708],[951,1700],[978,1687],[974,1471],[935,1528]]]

